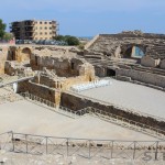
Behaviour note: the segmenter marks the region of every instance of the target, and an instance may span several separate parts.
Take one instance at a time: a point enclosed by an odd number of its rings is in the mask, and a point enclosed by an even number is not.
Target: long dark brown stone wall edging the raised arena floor
[[[94,108],[103,110],[106,112],[120,116],[122,118],[127,118],[129,120],[133,120],[133,121],[143,123],[143,124],[156,128],[156,129],[165,130],[164,121],[157,121],[156,119],[151,118],[151,117],[142,117],[135,112],[129,112],[123,109],[116,108],[113,106],[103,105],[97,101],[95,102],[92,100],[80,98],[79,96],[76,96],[76,95],[74,96],[67,92],[62,94],[61,106],[75,110],[75,111],[87,108],[87,107],[94,107]]]

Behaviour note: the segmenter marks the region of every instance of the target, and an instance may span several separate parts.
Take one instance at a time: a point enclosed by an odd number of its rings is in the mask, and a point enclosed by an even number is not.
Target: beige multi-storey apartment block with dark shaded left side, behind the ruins
[[[57,35],[58,23],[47,20],[24,20],[12,22],[10,29],[15,40],[52,40]]]

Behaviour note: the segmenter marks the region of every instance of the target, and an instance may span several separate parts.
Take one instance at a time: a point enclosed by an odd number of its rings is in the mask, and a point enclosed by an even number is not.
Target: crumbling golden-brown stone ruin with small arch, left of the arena
[[[79,58],[76,52],[74,47],[11,46],[4,61],[4,73],[34,76],[18,82],[18,92],[30,92],[59,105],[62,91],[96,79],[94,66]]]

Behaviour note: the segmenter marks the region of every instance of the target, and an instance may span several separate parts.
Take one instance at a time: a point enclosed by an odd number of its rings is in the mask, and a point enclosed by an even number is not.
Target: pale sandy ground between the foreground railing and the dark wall
[[[11,130],[21,133],[69,138],[155,140],[94,117],[72,119],[26,100],[0,105],[0,132]]]

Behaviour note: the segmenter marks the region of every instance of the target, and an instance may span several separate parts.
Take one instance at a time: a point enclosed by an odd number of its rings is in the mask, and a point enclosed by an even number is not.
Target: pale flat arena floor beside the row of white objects
[[[112,85],[81,91],[80,95],[165,118],[165,92],[111,79]]]

